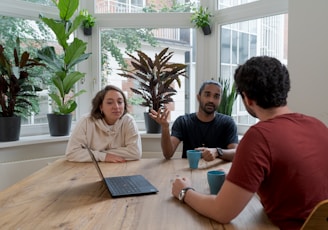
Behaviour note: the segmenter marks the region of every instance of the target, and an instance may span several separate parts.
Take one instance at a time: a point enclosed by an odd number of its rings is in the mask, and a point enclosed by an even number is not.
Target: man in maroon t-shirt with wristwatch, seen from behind
[[[180,199],[197,212],[228,223],[257,193],[275,225],[300,229],[314,206],[328,198],[328,129],[288,108],[289,73],[277,59],[253,57],[234,78],[247,111],[260,121],[239,143],[217,196],[188,189],[187,178],[175,180],[172,194],[183,194]]]

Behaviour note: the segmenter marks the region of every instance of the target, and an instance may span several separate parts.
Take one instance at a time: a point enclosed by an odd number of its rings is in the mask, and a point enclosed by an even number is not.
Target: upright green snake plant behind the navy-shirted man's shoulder
[[[231,116],[232,107],[238,95],[236,86],[233,83],[232,86],[230,87],[229,79],[223,80],[222,78],[219,78],[219,82],[222,85],[222,94],[221,94],[220,106],[218,107],[217,111],[219,113],[223,113]]]

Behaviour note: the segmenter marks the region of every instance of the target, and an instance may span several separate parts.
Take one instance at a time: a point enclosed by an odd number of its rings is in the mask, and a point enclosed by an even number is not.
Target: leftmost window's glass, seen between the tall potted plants
[[[22,0],[22,3],[17,5],[17,1],[1,1],[0,42],[4,44],[5,47],[14,47],[15,39],[13,38],[19,37],[22,51],[27,50],[32,57],[36,56],[36,50],[41,46],[51,45],[54,40],[54,35],[49,33],[48,28],[38,20],[39,13],[43,13],[44,10],[47,10],[47,14],[53,17],[57,15],[57,11],[55,12],[52,9],[53,7],[46,7],[43,4],[39,4],[50,2],[52,3],[51,0]],[[4,11],[2,11],[2,9],[4,9]],[[10,13],[8,13],[8,11]],[[38,68],[36,73],[33,73],[33,76],[33,80],[37,81],[38,86],[43,89],[38,92],[40,96],[40,111],[27,119],[22,119],[21,136],[49,133],[46,118],[46,114],[50,111],[48,97],[49,75],[47,75],[47,71],[45,71],[44,68]]]

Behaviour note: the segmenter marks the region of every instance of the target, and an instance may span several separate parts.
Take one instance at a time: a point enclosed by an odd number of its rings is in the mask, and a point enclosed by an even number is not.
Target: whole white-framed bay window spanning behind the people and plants
[[[17,1],[19,0],[0,1],[0,16],[8,17],[10,15],[13,21],[18,18],[35,20],[32,25],[37,25],[39,13],[46,13],[52,17],[57,16],[57,11],[53,10],[53,7],[48,7],[53,5],[52,0],[21,0],[22,4],[17,4]],[[172,114],[172,121],[177,115],[197,110],[196,94],[201,82],[220,75],[232,79],[236,66],[242,64],[248,57],[267,54],[278,57],[287,63],[287,14],[284,13],[288,12],[288,3],[285,0],[80,0],[80,4],[81,7],[88,8],[89,12],[95,14],[96,26],[94,34],[85,37],[90,43],[93,56],[88,63],[80,66],[83,69],[82,72],[86,72],[87,77],[78,87],[84,87],[87,93],[82,95],[81,100],[83,101],[78,102],[77,119],[89,111],[91,101],[86,102],[85,100],[90,100],[104,84],[109,82],[122,84],[123,80],[126,81],[121,77],[118,79],[119,62],[108,55],[108,50],[106,51],[102,47],[106,45],[104,36],[109,36],[108,34],[111,33],[111,35],[118,35],[124,30],[126,32],[134,31],[133,34],[137,34],[138,37],[137,39],[131,37],[130,41],[139,41],[140,45],[137,47],[149,52],[148,54],[168,46],[179,57],[179,61],[185,61],[188,64],[190,76],[185,79],[184,86],[179,89],[178,95],[174,98],[176,112]],[[215,15],[212,26],[216,29],[210,36],[204,36],[190,23],[190,6],[197,4],[209,4],[210,10]],[[152,16],[154,14],[145,14],[144,12],[158,12],[158,14],[154,17]],[[28,29],[24,23],[21,24],[23,31]],[[5,30],[3,28],[8,27],[1,28],[0,30]],[[7,30],[12,33],[18,31],[21,30]],[[148,36],[144,38],[148,40],[141,39],[143,38],[141,36],[147,35],[147,33]],[[33,35],[39,35],[39,32],[33,33]],[[121,37],[120,41],[123,41],[122,38],[127,38],[128,35]],[[78,36],[83,36],[82,32]],[[43,39],[41,37],[28,38],[30,41]],[[3,39],[2,32],[0,33],[1,39]],[[51,41],[51,37],[45,37],[45,40]],[[125,46],[124,43],[117,44],[118,50],[123,53],[123,59],[127,58],[124,52],[131,51],[127,47],[130,46]],[[206,58],[204,55],[207,55]],[[95,76],[99,76],[99,81],[95,80],[97,78]],[[128,94],[128,86],[122,85],[122,87],[127,87],[124,90]],[[47,90],[46,87],[45,90]],[[26,125],[22,126],[21,135],[48,133],[48,126],[43,123],[45,120],[42,118],[48,109],[46,98],[47,94],[44,91],[40,95],[43,114],[40,112],[26,121]],[[133,99],[131,100],[133,101]],[[140,110],[139,112],[134,111],[135,116],[138,117],[137,114],[144,109],[134,106],[133,110]],[[240,100],[235,103],[233,116],[238,127],[248,127],[256,122],[247,114]]]

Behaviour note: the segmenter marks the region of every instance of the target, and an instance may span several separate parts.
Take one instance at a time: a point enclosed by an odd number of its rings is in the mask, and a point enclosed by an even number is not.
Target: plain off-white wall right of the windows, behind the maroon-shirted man
[[[289,0],[289,106],[328,125],[328,1]]]

